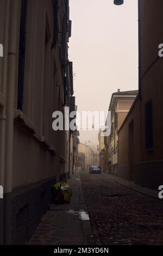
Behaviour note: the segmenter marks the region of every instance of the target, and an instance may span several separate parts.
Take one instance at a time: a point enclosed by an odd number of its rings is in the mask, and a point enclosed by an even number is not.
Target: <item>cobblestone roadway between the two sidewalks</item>
[[[104,174],[80,174],[96,245],[163,245],[163,201]]]

